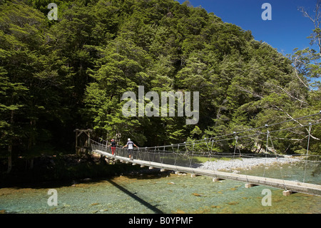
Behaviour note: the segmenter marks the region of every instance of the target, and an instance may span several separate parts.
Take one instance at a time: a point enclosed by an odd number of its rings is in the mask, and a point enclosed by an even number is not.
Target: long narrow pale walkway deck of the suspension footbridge
[[[203,175],[208,177],[213,177],[214,179],[232,179],[239,182],[245,182],[245,187],[252,187],[255,185],[263,185],[268,187],[275,187],[277,189],[284,189],[284,195],[290,194],[292,192],[300,192],[304,194],[312,194],[321,196],[321,185],[319,184],[309,184],[309,183],[302,183],[302,182],[294,182],[288,181],[283,179],[274,179],[274,178],[267,178],[267,177],[255,177],[245,174],[235,174],[235,173],[228,173],[228,172],[219,172],[210,169],[198,169],[198,168],[191,168],[191,167],[180,167],[175,166],[172,164],[161,164],[158,162],[148,162],[139,159],[129,159],[128,157],[121,157],[121,156],[113,156],[108,152],[103,152],[101,150],[93,150],[98,154],[103,154],[106,157],[111,159],[120,160],[123,162],[130,162],[133,164],[139,164],[141,166],[158,168],[163,170],[172,170],[177,172],[185,172],[195,175]]]

